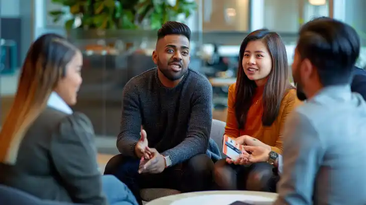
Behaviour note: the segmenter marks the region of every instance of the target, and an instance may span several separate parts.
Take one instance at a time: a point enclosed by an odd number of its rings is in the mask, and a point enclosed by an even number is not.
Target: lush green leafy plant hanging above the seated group
[[[65,22],[67,30],[141,29],[148,21],[149,29],[158,29],[166,21],[176,21],[179,15],[188,18],[196,9],[189,0],[52,0],[69,8],[70,19]],[[55,10],[49,13],[58,22],[67,13]],[[78,23],[78,24],[75,24]]]

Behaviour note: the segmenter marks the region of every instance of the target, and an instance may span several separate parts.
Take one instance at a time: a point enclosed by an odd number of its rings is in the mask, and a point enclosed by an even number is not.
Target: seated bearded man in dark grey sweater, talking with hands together
[[[189,192],[211,187],[213,162],[205,153],[212,123],[212,86],[188,68],[190,36],[187,25],[165,23],[152,54],[157,68],[124,87],[117,140],[121,157],[113,174],[139,202],[140,188]]]

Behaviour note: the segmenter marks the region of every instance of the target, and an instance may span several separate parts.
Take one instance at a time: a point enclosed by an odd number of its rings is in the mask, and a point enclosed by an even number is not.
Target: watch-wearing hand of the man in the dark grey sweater
[[[139,173],[161,173],[165,169],[165,158],[154,148],[147,148],[152,158],[142,167],[139,167]]]

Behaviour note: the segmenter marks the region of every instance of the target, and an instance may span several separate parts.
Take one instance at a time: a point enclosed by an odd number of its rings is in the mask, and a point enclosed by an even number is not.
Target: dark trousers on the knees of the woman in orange
[[[235,165],[221,159],[215,163],[215,188],[275,192],[278,177],[274,175],[272,168],[273,165],[265,162]]]

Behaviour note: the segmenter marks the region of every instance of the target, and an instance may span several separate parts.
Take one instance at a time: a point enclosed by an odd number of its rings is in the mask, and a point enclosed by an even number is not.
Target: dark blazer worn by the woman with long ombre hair
[[[107,204],[92,123],[47,108],[23,138],[15,165],[0,163],[0,183],[42,199]]]

